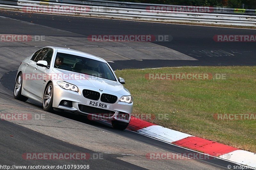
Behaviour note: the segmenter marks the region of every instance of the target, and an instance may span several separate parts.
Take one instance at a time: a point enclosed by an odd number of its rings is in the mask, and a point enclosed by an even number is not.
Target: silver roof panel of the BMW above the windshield
[[[93,60],[97,60],[97,61],[107,63],[104,59],[102,59],[98,56],[88,54],[88,53],[84,53],[82,51],[77,51],[77,50],[74,50],[74,49],[62,48],[62,47],[52,47],[52,46],[49,46],[49,48],[55,48],[57,50],[57,52],[59,52],[59,53],[77,55],[77,56],[86,57],[86,58],[90,58],[90,59],[93,59]]]

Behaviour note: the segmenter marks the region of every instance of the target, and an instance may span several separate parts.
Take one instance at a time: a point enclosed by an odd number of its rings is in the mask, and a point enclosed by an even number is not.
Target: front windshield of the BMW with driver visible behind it
[[[57,53],[54,68],[116,81],[107,63],[77,55]]]

